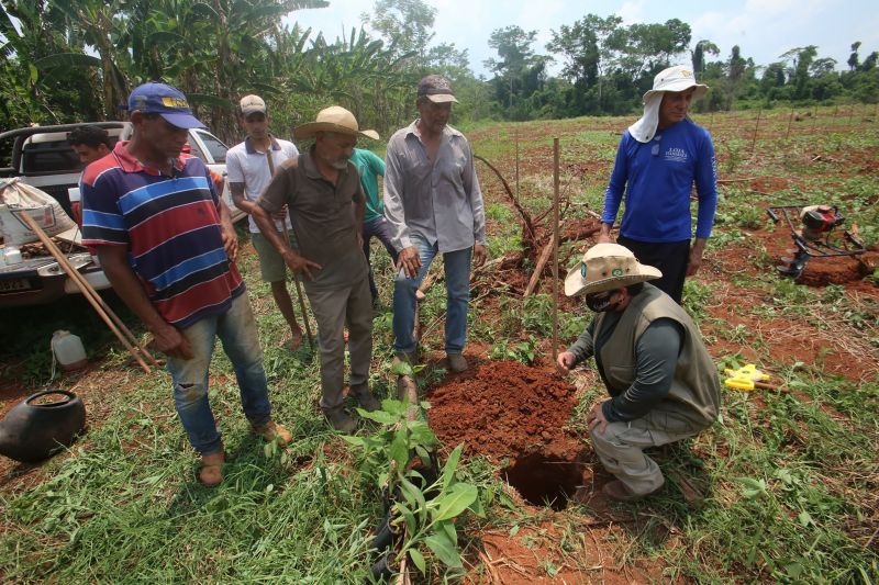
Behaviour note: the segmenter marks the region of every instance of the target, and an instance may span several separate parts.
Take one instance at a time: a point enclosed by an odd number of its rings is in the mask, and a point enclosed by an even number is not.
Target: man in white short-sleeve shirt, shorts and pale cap
[[[271,181],[275,169],[285,160],[298,156],[299,150],[293,143],[278,139],[269,133],[268,125],[271,120],[266,109],[266,102],[258,95],[242,98],[238,112],[247,137],[226,153],[229,189],[232,191],[232,201],[235,206],[251,215],[247,221],[251,227],[251,241],[259,256],[259,271],[263,281],[268,282],[271,286],[275,304],[278,305],[278,310],[290,326],[292,336],[290,349],[296,351],[302,344],[302,329],[296,322],[293,302],[287,290],[287,266],[278,250],[259,233],[253,218],[253,209],[256,200]],[[292,225],[287,209],[282,207],[275,214],[275,229],[288,238],[290,246],[296,246],[290,240]]]

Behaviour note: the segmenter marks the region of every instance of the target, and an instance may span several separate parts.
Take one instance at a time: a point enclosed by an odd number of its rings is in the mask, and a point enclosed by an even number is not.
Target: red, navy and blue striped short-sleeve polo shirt
[[[125,246],[159,315],[185,328],[229,310],[244,282],[223,247],[214,190],[204,164],[181,154],[174,176],[143,166],[125,143],[82,177],[82,243]]]

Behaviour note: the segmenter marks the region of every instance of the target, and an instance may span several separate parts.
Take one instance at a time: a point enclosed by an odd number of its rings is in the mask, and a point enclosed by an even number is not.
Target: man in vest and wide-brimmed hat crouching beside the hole
[[[610,400],[587,417],[592,446],[616,476],[602,487],[617,502],[658,492],[659,466],[643,449],[692,437],[720,410],[720,380],[687,313],[646,281],[663,273],[617,244],[597,244],[565,279],[594,318],[557,359],[560,373],[594,357]]]

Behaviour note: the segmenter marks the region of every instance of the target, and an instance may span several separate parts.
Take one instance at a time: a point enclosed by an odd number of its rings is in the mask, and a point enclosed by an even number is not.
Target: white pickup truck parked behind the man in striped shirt
[[[125,140],[132,127],[127,122],[96,122],[108,131],[112,140]],[[0,177],[19,177],[22,182],[36,187],[60,203],[64,211],[74,217],[68,190],[79,185],[82,167],[74,149],[67,143],[67,133],[82,124],[33,126],[0,134],[0,148],[9,153],[0,156]],[[227,147],[205,130],[189,131],[189,151],[201,158],[209,169],[225,177]],[[232,203],[229,184],[223,189],[223,199],[233,221],[246,214]],[[97,290],[110,288],[110,283],[94,258],[81,246],[64,245],[67,258],[86,280]],[[79,289],[64,272],[58,262],[48,256],[41,245],[22,247],[25,258],[20,263],[0,263],[0,308],[51,303],[66,294],[79,294]],[[31,250],[37,252],[31,254]],[[0,252],[3,250],[0,249]]]

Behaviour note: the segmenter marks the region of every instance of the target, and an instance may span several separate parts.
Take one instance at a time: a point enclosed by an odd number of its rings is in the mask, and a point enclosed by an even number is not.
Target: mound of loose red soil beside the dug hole
[[[431,427],[448,447],[499,461],[539,452],[571,459],[580,447],[564,429],[577,405],[575,387],[547,369],[482,362],[430,392]]]

